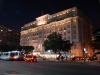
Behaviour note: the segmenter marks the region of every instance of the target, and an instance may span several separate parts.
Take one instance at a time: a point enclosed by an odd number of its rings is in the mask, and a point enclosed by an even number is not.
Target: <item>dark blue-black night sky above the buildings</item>
[[[0,0],[0,24],[20,30],[42,11],[54,14],[74,6],[92,21],[93,30],[100,28],[100,0]]]

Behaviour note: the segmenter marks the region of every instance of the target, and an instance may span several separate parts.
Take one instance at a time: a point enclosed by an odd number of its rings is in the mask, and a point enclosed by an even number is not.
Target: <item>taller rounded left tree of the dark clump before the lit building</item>
[[[47,37],[47,40],[44,41],[43,46],[45,50],[52,49],[55,53],[60,51],[62,48],[62,36],[59,33],[53,32]]]

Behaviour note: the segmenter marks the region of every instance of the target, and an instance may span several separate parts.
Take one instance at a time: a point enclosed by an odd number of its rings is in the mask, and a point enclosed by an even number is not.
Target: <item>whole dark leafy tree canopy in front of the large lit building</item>
[[[71,48],[70,41],[64,41],[61,34],[53,32],[48,35],[47,39],[44,41],[43,46],[45,50],[53,50],[55,53],[60,51],[68,51]]]

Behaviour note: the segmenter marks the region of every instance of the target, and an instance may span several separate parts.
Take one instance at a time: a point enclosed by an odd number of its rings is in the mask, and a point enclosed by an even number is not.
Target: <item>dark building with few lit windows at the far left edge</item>
[[[19,45],[20,31],[0,25],[0,45]]]

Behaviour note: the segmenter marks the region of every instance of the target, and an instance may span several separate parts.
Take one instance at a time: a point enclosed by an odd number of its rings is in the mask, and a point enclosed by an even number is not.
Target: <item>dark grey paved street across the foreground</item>
[[[96,62],[94,62],[96,64]],[[93,64],[94,64],[93,63]],[[100,66],[80,62],[0,60],[0,75],[100,75]]]

